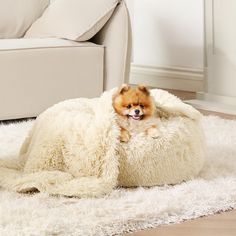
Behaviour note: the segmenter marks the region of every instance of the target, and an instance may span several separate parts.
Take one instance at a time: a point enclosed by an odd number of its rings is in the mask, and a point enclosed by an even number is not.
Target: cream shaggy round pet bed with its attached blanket
[[[161,116],[158,139],[139,134],[128,143],[112,107],[116,89],[100,98],[67,100],[43,112],[16,160],[1,160],[0,186],[98,197],[116,186],[176,184],[194,178],[204,163],[200,113],[154,89]]]

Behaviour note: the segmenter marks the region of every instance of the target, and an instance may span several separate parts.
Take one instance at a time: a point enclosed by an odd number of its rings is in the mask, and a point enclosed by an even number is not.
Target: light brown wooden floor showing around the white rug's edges
[[[183,100],[194,99],[195,93],[174,91]],[[218,115],[226,119],[236,119],[236,116],[213,113],[201,110],[204,115]],[[236,236],[236,210],[186,221],[181,224],[160,226],[155,229],[144,230],[129,236]]]

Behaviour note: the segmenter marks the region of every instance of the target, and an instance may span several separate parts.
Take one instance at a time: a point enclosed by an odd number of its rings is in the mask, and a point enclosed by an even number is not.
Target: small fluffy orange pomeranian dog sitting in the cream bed
[[[122,142],[128,142],[131,136],[142,132],[152,138],[158,138],[160,118],[147,87],[139,85],[131,88],[124,84],[114,94],[112,104],[118,114]]]

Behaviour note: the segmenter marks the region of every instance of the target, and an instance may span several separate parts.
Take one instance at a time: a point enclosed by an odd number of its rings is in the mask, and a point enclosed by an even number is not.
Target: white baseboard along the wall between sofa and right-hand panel
[[[203,69],[131,65],[130,84],[184,91],[203,90]]]

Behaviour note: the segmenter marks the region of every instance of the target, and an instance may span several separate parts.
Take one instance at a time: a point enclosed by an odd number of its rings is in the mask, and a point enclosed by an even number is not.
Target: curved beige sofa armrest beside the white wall
[[[128,83],[131,37],[129,12],[125,1],[121,1],[110,20],[91,40],[105,47],[104,90]]]

